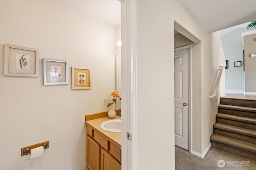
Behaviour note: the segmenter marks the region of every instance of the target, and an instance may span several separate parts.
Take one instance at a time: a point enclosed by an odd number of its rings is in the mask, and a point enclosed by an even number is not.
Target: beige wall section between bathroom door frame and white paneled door
[[[138,170],[175,169],[171,4],[137,1]]]

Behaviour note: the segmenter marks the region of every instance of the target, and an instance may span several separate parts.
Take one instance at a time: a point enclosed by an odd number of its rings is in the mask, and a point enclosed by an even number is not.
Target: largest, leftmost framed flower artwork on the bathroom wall
[[[39,76],[39,49],[4,45],[5,76]]]

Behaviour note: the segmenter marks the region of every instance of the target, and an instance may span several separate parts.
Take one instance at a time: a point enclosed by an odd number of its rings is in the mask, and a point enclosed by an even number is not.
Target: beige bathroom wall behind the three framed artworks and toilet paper
[[[84,115],[107,111],[115,89],[115,26],[56,1],[0,1],[0,169],[82,170]],[[40,50],[39,77],[4,76],[4,44]],[[68,61],[68,85],[43,85],[42,58]],[[92,89],[72,90],[71,67],[92,69]],[[44,156],[20,149],[50,140]]]

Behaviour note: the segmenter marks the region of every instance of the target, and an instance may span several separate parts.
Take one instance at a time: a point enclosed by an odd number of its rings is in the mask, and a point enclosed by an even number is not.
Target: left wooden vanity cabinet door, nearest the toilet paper
[[[90,170],[100,170],[100,145],[87,135],[86,163]]]

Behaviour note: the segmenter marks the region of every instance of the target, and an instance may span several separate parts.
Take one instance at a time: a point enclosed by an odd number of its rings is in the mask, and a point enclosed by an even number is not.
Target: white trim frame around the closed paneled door
[[[186,45],[183,47],[178,47],[174,49],[175,51],[180,51],[188,49],[188,152],[191,153],[191,146],[192,146],[192,100],[191,100],[191,57],[192,57],[192,45]]]

